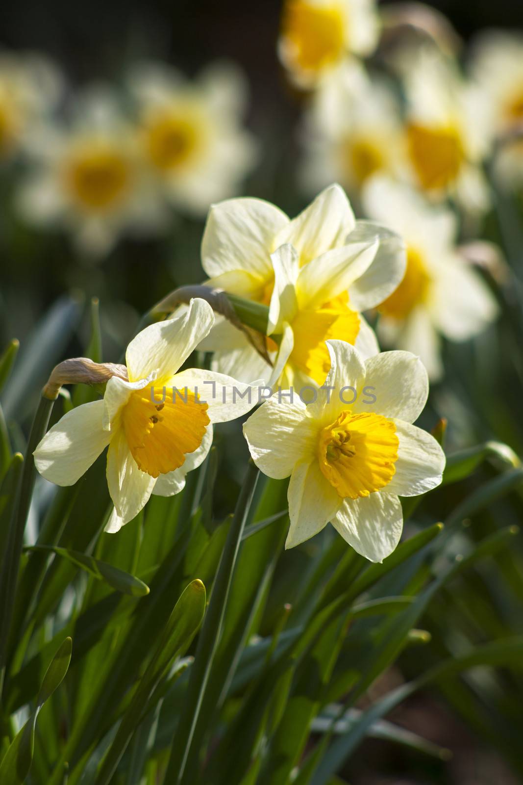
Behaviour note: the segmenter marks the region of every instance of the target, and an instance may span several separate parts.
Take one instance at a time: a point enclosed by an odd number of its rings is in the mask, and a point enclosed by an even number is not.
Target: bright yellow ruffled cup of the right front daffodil
[[[343,411],[320,432],[321,473],[342,498],[369,496],[392,480],[398,444],[392,420],[381,414]]]

